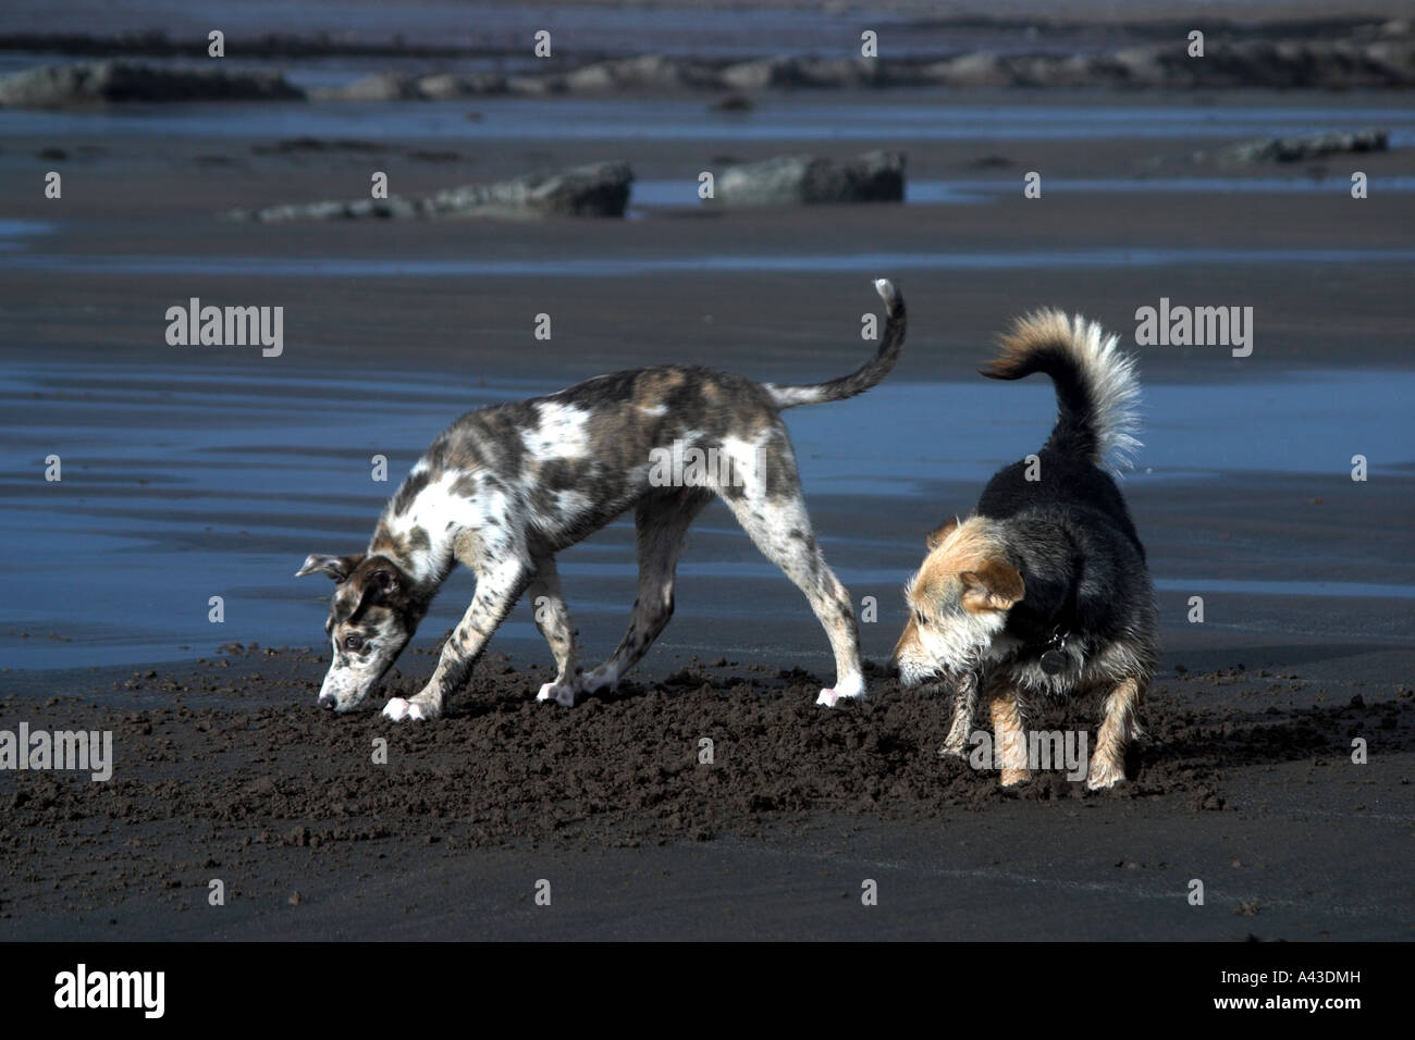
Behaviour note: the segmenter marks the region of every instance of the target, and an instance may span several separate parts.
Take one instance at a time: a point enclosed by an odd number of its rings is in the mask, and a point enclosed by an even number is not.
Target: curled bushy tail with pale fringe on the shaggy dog
[[[1140,385],[1135,358],[1119,337],[1080,314],[1043,310],[1019,318],[1002,337],[1002,352],[983,369],[992,379],[1046,372],[1057,388],[1057,424],[1047,447],[1122,470],[1139,449]]]

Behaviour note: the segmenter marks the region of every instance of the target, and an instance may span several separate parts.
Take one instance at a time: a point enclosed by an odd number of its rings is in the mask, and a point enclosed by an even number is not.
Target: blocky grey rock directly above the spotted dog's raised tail
[[[815,156],[780,156],[727,167],[717,177],[713,194],[724,205],[903,202],[904,156],[866,151],[843,163]]]

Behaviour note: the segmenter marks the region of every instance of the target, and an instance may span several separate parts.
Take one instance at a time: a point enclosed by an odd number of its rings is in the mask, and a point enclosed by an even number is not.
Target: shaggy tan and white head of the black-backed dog
[[[993,522],[955,518],[925,543],[928,556],[904,587],[910,618],[893,657],[906,686],[957,679],[976,668],[1007,624],[1012,604],[1026,594]]]

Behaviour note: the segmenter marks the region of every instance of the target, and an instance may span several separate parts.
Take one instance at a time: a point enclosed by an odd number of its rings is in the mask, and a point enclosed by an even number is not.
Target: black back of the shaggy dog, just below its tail
[[[999,470],[978,498],[978,514],[992,519],[1009,519],[1036,508],[1078,508],[1099,514],[1129,539],[1145,559],[1125,497],[1111,474],[1090,460],[1077,458],[1051,449],[1037,453],[1040,480],[1027,480],[1026,460]]]

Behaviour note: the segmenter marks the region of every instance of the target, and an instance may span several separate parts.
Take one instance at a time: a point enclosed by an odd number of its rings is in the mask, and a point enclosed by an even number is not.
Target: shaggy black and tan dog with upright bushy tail
[[[940,754],[966,754],[982,695],[1005,787],[1029,775],[1030,706],[1101,693],[1087,773],[1094,790],[1125,780],[1125,749],[1159,661],[1145,546],[1101,468],[1138,447],[1139,383],[1114,335],[1060,311],[1017,321],[982,369],[993,379],[1033,372],[1056,383],[1051,437],[1034,461],[999,471],[972,516],[928,535],[893,664],[906,686],[941,683],[955,695]]]

